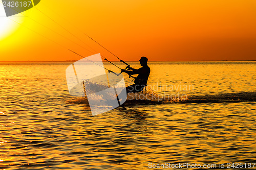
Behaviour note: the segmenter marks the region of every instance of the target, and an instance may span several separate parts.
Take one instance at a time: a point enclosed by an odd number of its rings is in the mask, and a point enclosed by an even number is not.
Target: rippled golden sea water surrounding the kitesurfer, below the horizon
[[[148,86],[188,100],[134,102],[96,116],[87,104],[69,102],[75,98],[66,82],[69,64],[0,63],[0,169],[256,162],[256,62],[149,62]]]

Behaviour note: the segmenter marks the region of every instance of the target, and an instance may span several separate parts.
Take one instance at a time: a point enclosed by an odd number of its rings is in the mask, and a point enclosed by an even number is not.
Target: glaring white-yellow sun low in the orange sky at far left
[[[2,1],[0,2],[0,40],[6,38],[9,36],[12,32],[14,32],[19,25],[16,22],[20,22],[21,18],[19,16],[13,16],[13,17],[6,17],[5,9],[2,4]]]

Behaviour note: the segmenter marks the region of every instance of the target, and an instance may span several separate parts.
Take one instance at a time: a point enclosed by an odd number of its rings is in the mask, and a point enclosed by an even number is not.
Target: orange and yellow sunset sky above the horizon
[[[256,60],[255,0],[43,0],[36,8],[10,17],[22,26],[0,33],[0,61],[81,59],[68,48],[116,60],[83,33],[126,61]]]

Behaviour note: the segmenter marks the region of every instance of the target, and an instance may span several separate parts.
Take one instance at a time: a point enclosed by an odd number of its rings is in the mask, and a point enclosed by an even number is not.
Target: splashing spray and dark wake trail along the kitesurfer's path
[[[97,101],[114,100],[115,94],[108,94],[108,98],[102,95],[96,95],[95,92],[101,89],[109,88],[108,85],[85,81],[84,93],[90,93],[91,98]],[[86,90],[85,90],[86,88]],[[215,95],[161,95],[149,86],[138,93],[128,93],[124,105],[134,104],[172,104],[172,103],[236,103],[236,102],[255,102],[256,92],[239,92],[239,93],[220,93]],[[70,104],[89,104],[87,95],[83,97],[74,97],[67,100]]]

